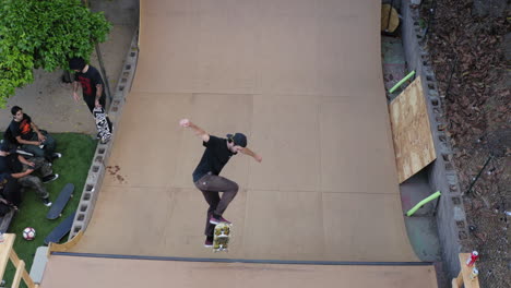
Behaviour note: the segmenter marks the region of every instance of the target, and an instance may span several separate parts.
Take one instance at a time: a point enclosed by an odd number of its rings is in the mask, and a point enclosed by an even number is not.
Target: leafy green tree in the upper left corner
[[[111,24],[80,0],[0,1],[0,107],[16,87],[34,81],[34,69],[68,68],[68,59],[88,60]]]

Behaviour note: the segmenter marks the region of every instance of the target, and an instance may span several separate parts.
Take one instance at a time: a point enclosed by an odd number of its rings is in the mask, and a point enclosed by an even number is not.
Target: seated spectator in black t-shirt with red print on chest
[[[45,157],[48,161],[62,157],[60,153],[55,153],[56,143],[51,135],[44,130],[39,130],[20,106],[12,107],[11,113],[14,119],[9,125],[9,131],[13,140],[24,151],[34,154],[36,157]]]

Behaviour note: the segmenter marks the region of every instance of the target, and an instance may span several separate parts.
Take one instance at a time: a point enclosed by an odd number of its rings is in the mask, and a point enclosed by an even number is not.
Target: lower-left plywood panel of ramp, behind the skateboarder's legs
[[[86,235],[73,248],[74,251],[225,257],[223,253],[212,254],[211,249],[202,247],[207,205],[199,190],[110,187],[104,192],[97,201]],[[239,192],[225,213],[226,218],[237,219],[236,240],[229,257],[245,256],[246,194],[246,191]]]

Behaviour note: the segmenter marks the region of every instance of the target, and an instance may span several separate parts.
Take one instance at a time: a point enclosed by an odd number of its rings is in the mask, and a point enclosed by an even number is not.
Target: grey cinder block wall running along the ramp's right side
[[[403,46],[408,70],[415,70],[417,75],[424,77],[424,91],[427,95],[428,112],[431,119],[431,133],[433,134],[437,155],[428,172],[429,184],[433,190],[449,191],[440,197],[437,213],[439,238],[442,244],[442,259],[449,277],[457,273],[457,253],[461,251],[460,241],[467,237],[466,219],[460,195],[457,177],[453,170],[451,158],[452,149],[445,135],[447,125],[443,121],[444,111],[441,108],[443,95],[438,91],[431,59],[428,55],[425,35],[419,26],[419,14],[409,8],[409,0],[402,0],[402,35]]]

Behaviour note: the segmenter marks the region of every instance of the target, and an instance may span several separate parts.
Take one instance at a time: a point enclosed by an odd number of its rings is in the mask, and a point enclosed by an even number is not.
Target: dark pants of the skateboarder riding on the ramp
[[[205,201],[210,205],[204,233],[205,236],[213,237],[215,225],[210,223],[210,217],[213,214],[224,214],[229,203],[238,193],[238,184],[222,176],[205,175],[195,182],[195,187],[201,190]],[[222,197],[218,192],[224,192]]]

